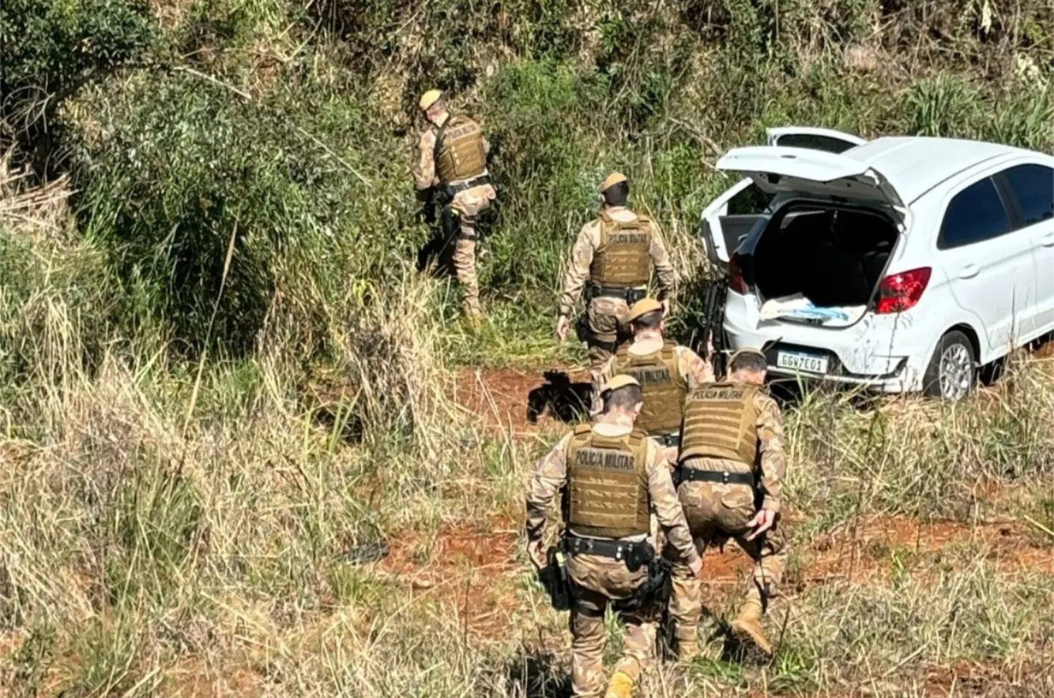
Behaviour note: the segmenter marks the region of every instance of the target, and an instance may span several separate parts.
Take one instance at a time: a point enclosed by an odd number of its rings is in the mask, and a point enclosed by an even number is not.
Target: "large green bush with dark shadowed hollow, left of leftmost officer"
[[[75,124],[84,229],[111,250],[140,312],[191,346],[207,342],[218,303],[213,336],[231,352],[284,313],[319,350],[320,307],[362,302],[354,279],[382,277],[422,237],[398,195],[406,180],[383,155],[396,142],[339,85],[307,70],[279,79],[257,100],[193,73],[140,71],[71,110],[109,124]]]

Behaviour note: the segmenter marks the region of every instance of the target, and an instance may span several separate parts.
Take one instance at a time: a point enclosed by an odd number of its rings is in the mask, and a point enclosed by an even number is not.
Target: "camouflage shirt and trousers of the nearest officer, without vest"
[[[597,424],[593,430],[613,437],[629,433],[630,428]],[[546,511],[557,493],[567,486],[567,449],[571,437],[570,433],[564,437],[533,467],[527,495],[528,538],[536,539],[542,536]],[[659,447],[650,440],[647,442],[645,467],[652,513],[666,527],[671,547],[685,556],[685,564],[695,564],[698,554],[674,489],[669,467],[662,460]],[[629,571],[624,562],[583,554],[568,558],[567,570],[572,596],[570,631],[573,695],[601,696],[604,692],[604,613],[608,607],[619,613],[626,625],[623,657],[614,671],[625,674],[636,683],[641,670],[653,656],[656,620],[661,609],[643,608],[620,613],[619,601],[631,597],[645,582],[647,567]]]

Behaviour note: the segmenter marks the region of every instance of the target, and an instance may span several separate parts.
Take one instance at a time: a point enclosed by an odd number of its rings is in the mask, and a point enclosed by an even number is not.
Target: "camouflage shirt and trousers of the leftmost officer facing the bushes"
[[[413,168],[414,183],[419,191],[462,183],[458,181],[444,182],[436,175],[435,139],[437,135],[438,129],[434,125],[430,125],[421,134],[419,155]],[[489,150],[486,140],[484,143]],[[487,172],[484,171],[484,174],[480,176],[487,176]],[[442,258],[445,264],[452,263],[454,273],[464,291],[462,309],[470,317],[479,317],[482,314],[480,284],[475,274],[476,216],[490,207],[490,202],[494,200],[496,195],[493,186],[489,182],[471,187],[455,193],[443,211],[443,233],[448,239],[443,249]],[[457,227],[456,231],[454,226]]]

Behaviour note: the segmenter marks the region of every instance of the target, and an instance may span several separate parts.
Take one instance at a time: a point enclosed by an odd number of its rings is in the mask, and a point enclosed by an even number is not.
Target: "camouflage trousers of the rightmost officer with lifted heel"
[[[750,532],[747,523],[757,513],[754,489],[749,485],[686,482],[678,488],[678,495],[700,556],[708,547],[724,545],[729,538],[750,556],[754,570],[746,596],[761,601],[764,607],[767,599],[778,594],[787,564],[789,550],[783,527],[777,521],[762,536],[746,540]],[[677,560],[671,562],[674,592],[669,615],[675,623],[675,637],[682,646],[685,643],[695,645],[703,609],[702,583],[687,565]]]

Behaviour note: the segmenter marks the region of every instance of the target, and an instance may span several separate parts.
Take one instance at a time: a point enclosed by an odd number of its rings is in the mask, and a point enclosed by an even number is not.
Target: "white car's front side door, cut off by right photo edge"
[[[1035,158],[1003,170],[1004,194],[1016,205],[1015,224],[1029,235],[1036,265],[1035,327],[1032,335],[1054,331],[1054,161]]]

